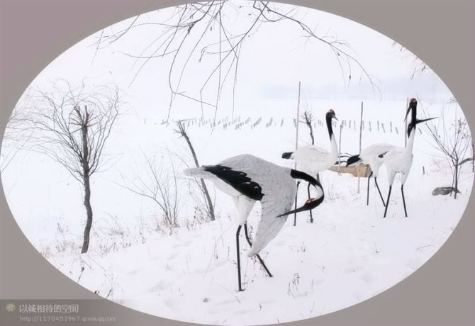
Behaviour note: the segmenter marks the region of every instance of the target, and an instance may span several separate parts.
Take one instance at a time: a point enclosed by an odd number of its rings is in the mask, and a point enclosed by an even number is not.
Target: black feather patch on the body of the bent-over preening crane
[[[230,167],[223,165],[203,165],[203,169],[207,172],[218,176],[226,184],[229,184],[234,189],[255,201],[260,201],[264,196],[262,187],[257,182],[252,181],[245,172],[235,171]]]

